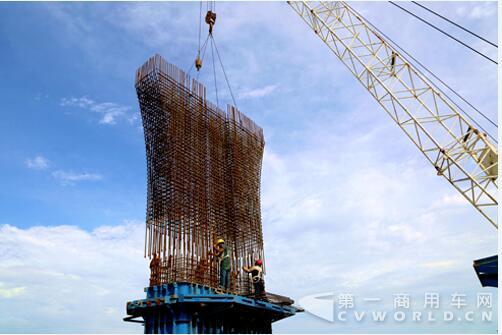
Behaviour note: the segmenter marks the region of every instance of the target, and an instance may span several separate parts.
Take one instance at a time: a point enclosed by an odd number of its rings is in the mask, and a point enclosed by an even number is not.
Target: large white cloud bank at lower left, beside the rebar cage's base
[[[136,221],[92,231],[0,225],[2,331],[72,332],[78,320],[79,332],[140,333],[122,317],[148,284],[143,236]]]

